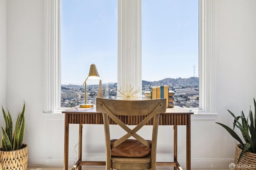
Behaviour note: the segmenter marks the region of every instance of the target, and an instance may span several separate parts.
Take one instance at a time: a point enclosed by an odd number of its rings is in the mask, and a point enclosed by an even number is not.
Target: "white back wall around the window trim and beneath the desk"
[[[5,3],[6,1],[0,1]],[[217,122],[232,124],[226,108],[248,113],[256,96],[256,1],[215,0],[216,112]],[[1,14],[5,7],[0,6]],[[5,14],[5,13],[4,13]],[[6,106],[14,119],[26,102],[24,142],[29,147],[29,166],[63,166],[64,120],[48,120],[44,107],[44,0],[7,1],[7,86]],[[0,30],[4,16],[0,15]],[[4,33],[0,32],[0,37]],[[0,46],[5,45],[0,39]],[[3,51],[3,52],[2,52]],[[4,54],[4,57],[2,57]],[[5,49],[0,47],[5,64]],[[2,63],[3,61],[3,63]],[[5,75],[0,73],[5,78]],[[1,78],[1,77],[0,77]],[[4,87],[0,87],[2,94]],[[5,95],[4,95],[5,96]],[[4,100],[0,97],[0,101]],[[16,115],[15,115],[16,114]],[[90,129],[90,131],[89,131]],[[160,127],[158,160],[172,157],[172,127]],[[234,139],[215,121],[192,121],[192,167],[228,168],[234,158]],[[146,134],[146,130],[144,130]],[[178,128],[178,158],[184,167],[185,127]],[[70,165],[74,163],[78,126],[70,125]],[[102,125],[84,125],[85,159],[104,160]],[[167,146],[166,146],[167,145]],[[169,145],[169,146],[168,146]],[[75,148],[77,150],[77,148]],[[171,156],[170,156],[171,154]]]

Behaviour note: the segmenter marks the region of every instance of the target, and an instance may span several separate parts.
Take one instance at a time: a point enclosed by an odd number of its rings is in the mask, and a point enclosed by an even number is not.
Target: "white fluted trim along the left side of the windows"
[[[44,113],[61,113],[60,0],[46,0]]]

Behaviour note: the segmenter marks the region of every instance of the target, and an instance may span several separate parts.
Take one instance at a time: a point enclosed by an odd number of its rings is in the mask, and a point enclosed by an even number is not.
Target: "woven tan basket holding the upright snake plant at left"
[[[14,151],[0,149],[0,163],[3,170],[27,170],[28,146],[22,144],[22,148]]]

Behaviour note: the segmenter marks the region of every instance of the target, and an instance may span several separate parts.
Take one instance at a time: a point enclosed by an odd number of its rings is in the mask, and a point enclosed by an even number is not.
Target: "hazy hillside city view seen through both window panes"
[[[166,78],[159,81],[142,81],[141,99],[144,98],[144,92],[150,91],[151,87],[169,85],[169,91],[174,91],[174,105],[180,107],[198,107],[199,90],[198,77],[190,78]],[[87,103],[95,104],[98,95],[98,85],[86,86]],[[103,83],[103,98],[116,99],[119,95],[117,83]],[[74,107],[84,103],[83,85],[61,85],[61,107]]]

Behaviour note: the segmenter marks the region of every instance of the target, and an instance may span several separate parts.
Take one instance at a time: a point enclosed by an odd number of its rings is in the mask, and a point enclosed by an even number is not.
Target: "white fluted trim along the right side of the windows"
[[[215,120],[215,35],[214,0],[199,0],[199,110],[195,115]]]

